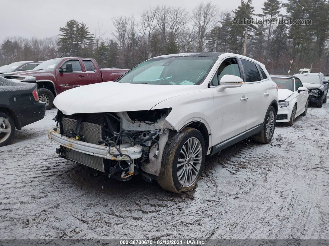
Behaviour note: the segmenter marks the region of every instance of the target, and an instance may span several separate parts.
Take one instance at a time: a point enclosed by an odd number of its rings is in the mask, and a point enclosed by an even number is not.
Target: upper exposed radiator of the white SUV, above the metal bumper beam
[[[73,129],[75,131],[77,126],[77,120],[63,118],[63,130]],[[80,134],[84,135],[86,141],[90,144],[98,144],[98,141],[102,139],[102,128],[100,125],[83,122],[81,124]]]

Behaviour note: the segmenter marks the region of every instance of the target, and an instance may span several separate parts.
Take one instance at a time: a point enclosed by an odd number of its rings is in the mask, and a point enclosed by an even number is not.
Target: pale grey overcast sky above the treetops
[[[253,0],[255,13],[261,12],[265,0]],[[87,23],[89,31],[103,24],[103,37],[112,37],[112,18],[120,15],[134,15],[149,7],[167,4],[180,6],[191,12],[201,0],[0,0],[0,41],[6,37],[23,36],[40,38],[59,34],[70,19]],[[232,11],[240,5],[240,0],[211,0],[220,11]]]

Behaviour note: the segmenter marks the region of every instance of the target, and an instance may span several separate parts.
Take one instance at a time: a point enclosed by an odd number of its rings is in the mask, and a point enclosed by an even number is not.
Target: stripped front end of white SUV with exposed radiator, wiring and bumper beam
[[[139,173],[148,180],[159,175],[170,124],[171,108],[115,113],[65,115],[60,110],[48,138],[58,144],[59,156],[115,179],[126,181]]]

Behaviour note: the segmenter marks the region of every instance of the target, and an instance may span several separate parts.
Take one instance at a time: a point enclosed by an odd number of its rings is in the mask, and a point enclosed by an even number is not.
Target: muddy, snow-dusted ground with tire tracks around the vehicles
[[[57,157],[55,114],[0,148],[0,238],[329,238],[329,104],[223,150],[182,195]]]

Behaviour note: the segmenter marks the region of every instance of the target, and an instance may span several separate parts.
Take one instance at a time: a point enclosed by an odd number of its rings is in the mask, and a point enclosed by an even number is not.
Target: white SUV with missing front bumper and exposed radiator
[[[195,187],[206,155],[251,136],[271,140],[278,92],[256,60],[186,53],[65,91],[54,104],[48,138],[61,157],[122,181],[140,173],[180,193]]]

